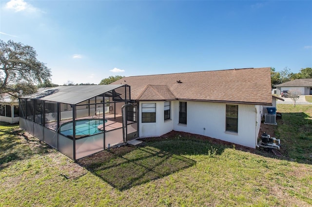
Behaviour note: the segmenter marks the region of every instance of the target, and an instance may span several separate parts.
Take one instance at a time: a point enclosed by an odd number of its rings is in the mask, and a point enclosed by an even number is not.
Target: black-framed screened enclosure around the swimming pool
[[[76,160],[138,137],[128,85],[58,86],[21,97],[20,128]]]

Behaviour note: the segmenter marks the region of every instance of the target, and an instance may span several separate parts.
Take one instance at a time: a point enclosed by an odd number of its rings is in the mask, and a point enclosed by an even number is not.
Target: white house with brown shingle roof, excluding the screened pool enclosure
[[[270,68],[125,77],[138,105],[140,138],[172,130],[255,148],[263,105],[272,105]]]

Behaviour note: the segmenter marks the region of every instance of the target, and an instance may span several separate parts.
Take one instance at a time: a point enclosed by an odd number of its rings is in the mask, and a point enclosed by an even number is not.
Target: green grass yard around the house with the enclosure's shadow
[[[0,126],[0,207],[312,206],[312,106],[277,111],[283,158],[181,134],[74,163]]]

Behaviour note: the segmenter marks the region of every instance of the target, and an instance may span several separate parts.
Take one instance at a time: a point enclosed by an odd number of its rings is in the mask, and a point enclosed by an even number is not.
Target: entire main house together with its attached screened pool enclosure
[[[271,68],[124,77],[20,98],[20,127],[73,160],[172,130],[255,148]]]

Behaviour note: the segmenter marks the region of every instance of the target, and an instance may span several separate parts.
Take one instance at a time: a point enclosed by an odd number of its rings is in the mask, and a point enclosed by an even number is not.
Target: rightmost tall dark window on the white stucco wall
[[[226,131],[238,132],[238,105],[226,105]]]

